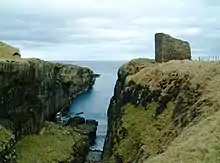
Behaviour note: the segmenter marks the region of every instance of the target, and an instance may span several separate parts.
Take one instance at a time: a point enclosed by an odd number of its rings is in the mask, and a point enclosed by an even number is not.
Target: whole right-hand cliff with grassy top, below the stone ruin
[[[220,63],[136,59],[118,71],[104,163],[219,161]]]

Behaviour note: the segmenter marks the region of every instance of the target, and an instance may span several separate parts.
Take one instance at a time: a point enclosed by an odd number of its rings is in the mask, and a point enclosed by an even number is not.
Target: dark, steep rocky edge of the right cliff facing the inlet
[[[114,151],[114,149],[126,135],[126,131],[123,129],[121,121],[123,117],[122,107],[129,100],[132,100],[131,92],[135,91],[126,91],[125,82],[128,76],[136,74],[147,66],[151,66],[152,63],[154,63],[154,61],[149,59],[135,59],[124,64],[118,70],[118,79],[114,88],[114,95],[111,98],[108,108],[108,130],[102,153],[103,163],[123,163],[123,160],[121,160],[120,156],[117,155],[117,152]],[[132,85],[132,82],[130,84]],[[134,99],[134,101],[136,101],[136,99]]]

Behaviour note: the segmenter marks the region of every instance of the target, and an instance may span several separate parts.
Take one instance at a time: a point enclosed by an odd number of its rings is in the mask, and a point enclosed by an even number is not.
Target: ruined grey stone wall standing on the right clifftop
[[[191,59],[190,44],[168,34],[155,34],[155,61]]]

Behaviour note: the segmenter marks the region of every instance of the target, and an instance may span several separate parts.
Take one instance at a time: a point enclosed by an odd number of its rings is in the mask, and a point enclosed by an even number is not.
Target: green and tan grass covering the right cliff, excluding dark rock
[[[133,80],[136,84],[156,90],[159,89],[159,81],[172,78],[172,74],[178,74],[178,78],[183,81],[187,76],[185,84],[188,84],[190,91],[199,86],[197,88],[201,93],[198,99],[201,103],[199,116],[186,128],[181,127],[181,124],[173,128],[171,117],[175,101],[170,101],[163,113],[156,118],[154,117],[156,102],[152,102],[145,110],[142,106],[136,108],[127,104],[123,108],[122,118],[122,127],[127,133],[125,139],[115,146],[115,153],[122,156],[126,162],[132,162],[134,158],[139,159],[138,157],[141,162],[145,158],[146,163],[219,162],[220,146],[216,142],[220,140],[218,136],[220,129],[218,131],[216,128],[220,123],[218,120],[220,113],[217,112],[220,106],[220,63],[171,61],[154,64],[129,76],[127,82]],[[189,96],[184,91],[180,94],[182,97],[187,95],[184,101],[188,103],[194,98],[193,94]],[[193,108],[194,105],[191,105],[187,107]],[[173,136],[173,133],[179,135],[174,141],[176,136]],[[202,150],[202,147],[206,149]],[[140,151],[144,151],[143,155]],[[162,152],[165,153],[158,155]]]

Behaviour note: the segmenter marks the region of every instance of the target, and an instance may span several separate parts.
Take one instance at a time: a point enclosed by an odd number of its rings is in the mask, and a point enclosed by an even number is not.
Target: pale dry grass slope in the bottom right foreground
[[[145,163],[218,163],[220,162],[220,111],[186,128],[165,153]]]

